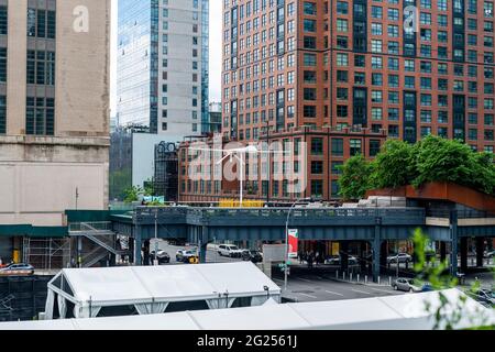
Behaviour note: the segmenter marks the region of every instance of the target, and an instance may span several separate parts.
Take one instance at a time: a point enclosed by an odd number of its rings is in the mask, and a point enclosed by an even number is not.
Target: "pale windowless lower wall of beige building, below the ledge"
[[[108,145],[57,138],[0,138],[0,224],[62,226],[66,209],[105,209]]]

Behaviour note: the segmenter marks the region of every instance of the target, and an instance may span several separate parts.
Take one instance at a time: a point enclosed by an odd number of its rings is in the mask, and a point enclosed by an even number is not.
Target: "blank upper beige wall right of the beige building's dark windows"
[[[77,16],[73,12],[77,7],[88,9],[88,32],[74,30]],[[58,0],[57,135],[109,135],[109,77],[110,0]]]

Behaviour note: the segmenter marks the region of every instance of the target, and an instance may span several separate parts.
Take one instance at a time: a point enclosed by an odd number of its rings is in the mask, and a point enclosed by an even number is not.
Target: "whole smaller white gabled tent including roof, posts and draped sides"
[[[252,306],[270,297],[279,302],[280,288],[251,262],[65,268],[48,284],[45,314],[53,318],[55,299],[62,318],[67,300],[76,318],[89,318],[102,307],[133,305],[140,315],[162,314],[174,301],[205,300],[217,309],[239,297],[250,297]]]

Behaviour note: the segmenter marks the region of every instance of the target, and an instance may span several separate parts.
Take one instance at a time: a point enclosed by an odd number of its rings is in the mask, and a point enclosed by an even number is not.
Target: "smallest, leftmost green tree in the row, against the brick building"
[[[361,199],[369,190],[372,165],[363,155],[355,155],[340,166],[342,176],[339,178],[339,195],[344,200]]]

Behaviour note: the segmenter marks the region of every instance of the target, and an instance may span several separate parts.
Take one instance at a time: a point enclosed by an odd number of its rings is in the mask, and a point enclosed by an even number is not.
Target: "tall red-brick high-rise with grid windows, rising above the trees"
[[[223,1],[223,135],[322,134],[308,140],[307,184],[324,199],[338,195],[336,166],[373,157],[378,135],[493,152],[494,69],[492,0]]]

